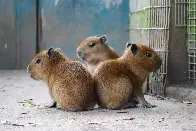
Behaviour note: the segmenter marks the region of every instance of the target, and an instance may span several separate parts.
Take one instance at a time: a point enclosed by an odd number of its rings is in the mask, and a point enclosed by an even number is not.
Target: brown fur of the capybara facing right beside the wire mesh
[[[157,53],[145,45],[137,44],[138,52],[133,54],[131,47],[117,60],[102,62],[94,73],[98,104],[102,108],[123,109],[132,105],[133,98],[143,107],[152,107],[142,91],[147,75],[161,66]],[[146,53],[152,57],[146,57]]]

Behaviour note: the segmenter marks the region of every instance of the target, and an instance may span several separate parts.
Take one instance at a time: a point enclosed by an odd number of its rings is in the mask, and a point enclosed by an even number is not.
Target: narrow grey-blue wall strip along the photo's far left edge
[[[0,0],[0,69],[16,64],[14,2]]]

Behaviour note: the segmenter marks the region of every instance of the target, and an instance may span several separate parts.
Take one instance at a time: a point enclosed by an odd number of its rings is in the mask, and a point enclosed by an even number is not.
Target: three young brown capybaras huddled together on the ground
[[[119,56],[103,35],[85,38],[76,52],[84,64],[67,59],[59,48],[49,48],[28,65],[31,78],[49,88],[53,102],[48,107],[58,104],[66,111],[92,110],[96,104],[112,110],[154,107],[142,90],[148,74],[162,63],[152,48],[128,42]]]

